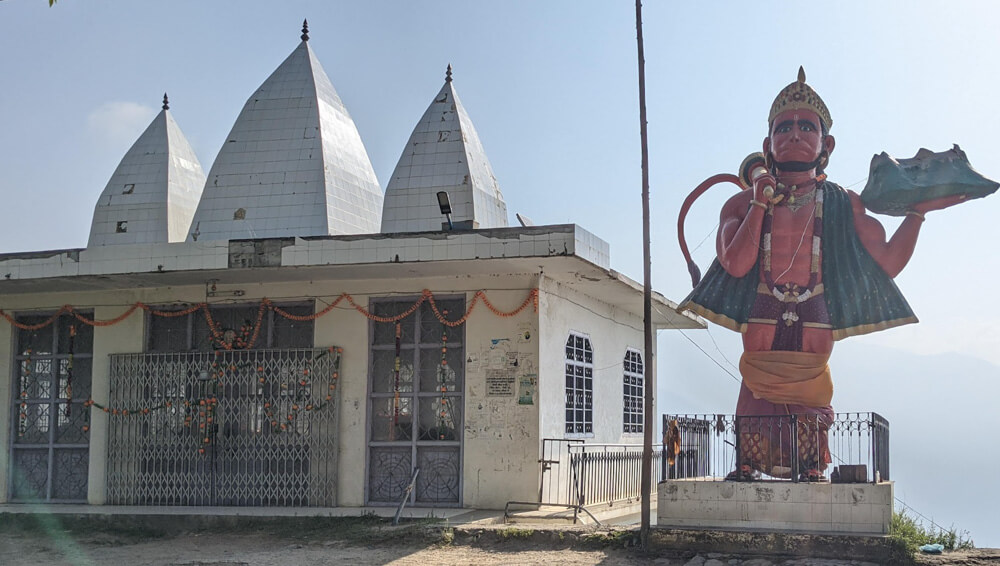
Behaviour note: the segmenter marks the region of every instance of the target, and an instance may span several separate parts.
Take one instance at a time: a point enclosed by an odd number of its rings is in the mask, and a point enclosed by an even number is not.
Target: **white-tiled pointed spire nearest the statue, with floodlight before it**
[[[507,226],[507,204],[479,134],[451,80],[413,129],[385,190],[382,232],[441,230],[436,194],[447,191],[452,220],[469,228]]]

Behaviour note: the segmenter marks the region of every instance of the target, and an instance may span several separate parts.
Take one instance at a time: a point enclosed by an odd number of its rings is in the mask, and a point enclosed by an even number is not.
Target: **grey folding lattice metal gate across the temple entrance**
[[[339,366],[338,348],[111,356],[109,503],[335,506]]]

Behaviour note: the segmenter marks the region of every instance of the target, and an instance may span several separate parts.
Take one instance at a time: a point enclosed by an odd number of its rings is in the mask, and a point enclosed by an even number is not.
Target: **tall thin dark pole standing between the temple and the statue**
[[[636,43],[639,47],[639,136],[642,139],[642,330],[644,334],[642,397],[642,526],[639,537],[649,548],[650,492],[653,486],[653,318],[649,253],[649,145],[646,141],[646,57],[642,50],[642,0],[635,0]]]

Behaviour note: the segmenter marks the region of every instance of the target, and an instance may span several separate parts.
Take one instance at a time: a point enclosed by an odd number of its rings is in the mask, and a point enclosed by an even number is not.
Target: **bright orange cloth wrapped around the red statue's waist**
[[[833,400],[829,360],[829,354],[812,352],[744,352],[740,374],[757,399],[828,407]]]

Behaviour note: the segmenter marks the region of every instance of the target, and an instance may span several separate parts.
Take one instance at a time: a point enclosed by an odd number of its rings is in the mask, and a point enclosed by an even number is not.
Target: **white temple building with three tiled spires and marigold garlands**
[[[164,103],[86,248],[0,255],[0,503],[503,509],[641,442],[642,286],[508,227],[469,116],[449,69],[383,203],[305,29],[207,177]]]

